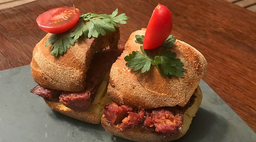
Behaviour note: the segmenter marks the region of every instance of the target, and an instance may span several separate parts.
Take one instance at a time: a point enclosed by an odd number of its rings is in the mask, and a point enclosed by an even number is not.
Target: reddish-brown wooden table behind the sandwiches
[[[147,27],[160,3],[170,8],[172,34],[198,49],[208,61],[204,81],[256,131],[256,14],[223,0],[38,0],[0,11],[0,70],[30,64],[32,51],[45,32],[36,24],[39,14],[76,5],[82,13],[126,13],[119,43]]]

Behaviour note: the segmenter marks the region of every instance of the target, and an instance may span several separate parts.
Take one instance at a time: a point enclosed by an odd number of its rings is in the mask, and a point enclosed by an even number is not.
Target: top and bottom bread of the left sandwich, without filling
[[[45,42],[52,34],[47,34],[33,50],[31,74],[35,82],[44,88],[68,92],[83,92],[86,86],[86,72],[95,52],[109,46],[118,49],[120,37],[119,28],[115,32],[99,35],[98,38],[80,37],[62,56],[52,56],[51,46],[45,47]],[[105,64],[101,62],[99,64]],[[97,65],[95,65],[97,66]],[[101,82],[101,81],[100,81]],[[110,102],[107,86],[109,72],[91,98],[94,100],[86,111],[75,111],[67,108],[57,99],[44,99],[46,104],[55,111],[88,123],[99,124],[103,114],[103,106]],[[97,92],[97,93],[96,93]],[[95,95],[96,94],[96,95]],[[95,97],[95,98],[94,98]]]

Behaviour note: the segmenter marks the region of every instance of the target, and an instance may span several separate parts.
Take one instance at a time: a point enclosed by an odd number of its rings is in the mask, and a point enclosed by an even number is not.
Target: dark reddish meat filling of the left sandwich
[[[94,54],[90,68],[86,72],[86,86],[83,92],[53,90],[40,85],[31,89],[30,92],[47,100],[60,101],[63,105],[75,111],[85,111],[94,101],[100,84],[123,50],[124,45],[120,45],[118,49],[106,48]]]

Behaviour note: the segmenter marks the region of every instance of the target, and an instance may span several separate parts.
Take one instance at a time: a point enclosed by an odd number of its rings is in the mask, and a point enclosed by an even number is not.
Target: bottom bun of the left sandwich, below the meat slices
[[[67,108],[59,101],[50,101],[48,99],[44,99],[44,101],[50,108],[66,116],[70,116],[88,123],[99,124],[103,114],[103,106],[111,102],[111,99],[107,95],[108,80],[109,73],[104,78],[104,81],[101,83],[97,91],[94,101],[86,111],[74,111],[73,109]]]

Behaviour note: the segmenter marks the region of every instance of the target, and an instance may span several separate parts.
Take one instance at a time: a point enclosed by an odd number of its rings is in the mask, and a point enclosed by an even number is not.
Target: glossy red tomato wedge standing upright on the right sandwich
[[[172,14],[164,5],[158,4],[148,22],[143,41],[143,49],[161,46],[172,31]]]

